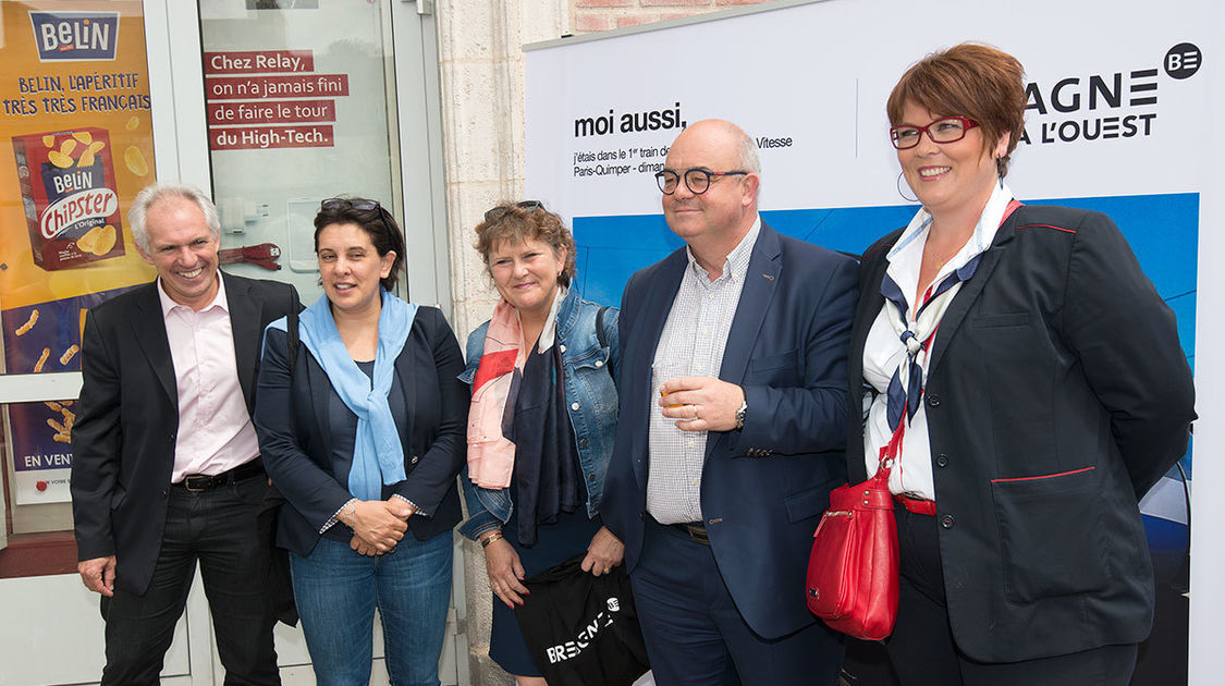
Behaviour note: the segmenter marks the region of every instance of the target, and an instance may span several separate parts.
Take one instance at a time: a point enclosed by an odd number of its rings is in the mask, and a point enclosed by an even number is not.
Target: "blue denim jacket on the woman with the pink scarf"
[[[616,437],[616,375],[620,365],[617,348],[616,307],[604,311],[604,342],[601,348],[595,336],[595,315],[600,305],[588,303],[578,296],[578,290],[571,288],[557,307],[556,344],[561,345],[561,364],[565,368],[566,409],[570,424],[575,430],[578,447],[578,463],[587,484],[587,516],[599,512],[600,496],[604,492],[604,473],[608,472],[609,457],[612,454],[612,441]],[[489,322],[480,325],[468,336],[466,359],[468,368],[459,380],[472,386],[480,365],[480,355],[485,350],[485,331]],[[483,489],[468,478],[464,467],[463,495],[468,505],[468,521],[459,527],[459,533],[475,540],[478,535],[497,528],[511,518],[510,489]]]

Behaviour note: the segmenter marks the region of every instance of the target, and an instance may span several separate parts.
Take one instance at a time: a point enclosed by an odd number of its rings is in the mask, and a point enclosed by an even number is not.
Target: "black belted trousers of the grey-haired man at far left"
[[[255,528],[267,488],[262,474],[202,492],[170,488],[162,551],[148,589],[137,595],[116,587],[113,598],[102,599],[103,685],[159,682],[197,561],[225,684],[281,684]],[[123,573],[120,561],[118,575]]]

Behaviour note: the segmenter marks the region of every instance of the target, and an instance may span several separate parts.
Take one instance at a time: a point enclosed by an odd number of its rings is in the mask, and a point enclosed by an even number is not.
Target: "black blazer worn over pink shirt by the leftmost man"
[[[287,283],[222,278],[250,412],[263,327],[299,307],[298,292]],[[157,288],[148,283],[89,310],[72,426],[77,556],[114,555],[115,583],[137,594],[148,588],[162,550],[179,430],[179,391]]]

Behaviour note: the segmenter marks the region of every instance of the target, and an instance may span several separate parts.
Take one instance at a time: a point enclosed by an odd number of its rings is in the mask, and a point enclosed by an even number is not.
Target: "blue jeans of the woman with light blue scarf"
[[[451,535],[365,557],[321,538],[306,557],[289,555],[294,599],[318,686],[365,686],[374,660],[374,614],[383,627],[392,686],[439,686],[451,597]]]

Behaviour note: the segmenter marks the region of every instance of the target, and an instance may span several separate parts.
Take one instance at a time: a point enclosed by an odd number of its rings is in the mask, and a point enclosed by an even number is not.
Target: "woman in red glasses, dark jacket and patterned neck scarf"
[[[1005,185],[1024,109],[1020,64],[973,44],[888,100],[922,209],[864,255],[848,467],[893,458],[908,686],[1127,684],[1153,616],[1137,503],[1194,418],[1174,315],[1110,218]]]

